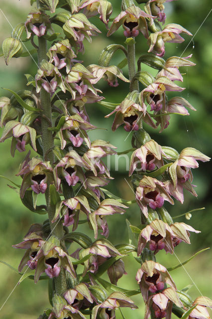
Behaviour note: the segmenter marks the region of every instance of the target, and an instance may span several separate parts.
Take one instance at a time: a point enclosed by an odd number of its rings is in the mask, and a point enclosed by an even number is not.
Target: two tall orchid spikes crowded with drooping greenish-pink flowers
[[[179,24],[161,26],[166,20],[164,3],[170,1],[137,0],[145,2],[141,9],[133,0],[122,0],[121,12],[110,19],[112,5],[108,0],[39,0],[38,8],[2,46],[6,64],[21,54],[24,32],[24,41],[30,40],[38,51],[37,73],[26,75],[31,91],[0,98],[0,126],[4,126],[0,142],[12,138],[12,156],[15,150],[32,148],[32,157],[29,151],[17,173],[22,178],[20,198],[32,212],[48,214],[43,224],[31,225],[23,241],[13,245],[25,250],[20,274],[27,267],[24,274],[30,268],[35,283],[51,279],[52,308],[39,319],[86,319],[85,315],[115,319],[120,307],[136,309],[128,296],[139,291],[117,287],[118,280],[127,275],[122,258],[130,252],[136,252],[135,259],[140,262],[136,281],[146,305],[144,319],[150,315],[171,319],[174,308],[181,314],[188,311],[189,319],[209,318],[206,306],[211,307],[211,301],[198,297],[185,305],[169,272],[155,258],[160,250],[173,254],[181,242],[190,244],[190,232],[200,232],[183,222],[173,222],[164,205],[166,201],[174,205],[173,198],[183,203],[184,188],[197,196],[191,169],[198,167],[197,160],[210,160],[194,148],[179,154],[162,147],[142,129],[145,122],[154,129],[160,126],[162,132],[171,114],[189,115],[187,108],[195,110],[183,97],[167,97],[170,91],[185,89],[175,83],[183,82],[179,68],[195,65],[190,61],[192,55],[163,59],[166,42],[181,43],[181,33],[191,35]],[[48,15],[48,11],[55,14]],[[78,60],[78,53],[85,50],[84,40],[91,42],[101,32],[89,20],[93,16],[99,16],[108,36],[122,26],[126,48],[108,45],[98,64],[85,66]],[[62,33],[54,31],[58,28]],[[148,54],[140,55],[136,72],[134,38],[139,34],[145,38]],[[118,66],[111,65],[119,49],[126,58]],[[129,76],[121,70],[126,63]],[[157,74],[142,71],[141,63],[156,69]],[[119,81],[125,86],[129,83],[120,103],[102,101],[102,91],[95,87],[101,79],[110,87],[117,87]],[[115,115],[112,131],[122,124],[126,132],[134,131],[129,176],[142,225],[127,224],[129,244],[113,245],[108,240],[107,216],[122,215],[132,201],[103,188],[113,179],[104,158],[116,154],[116,147],[101,139],[90,140],[89,131],[97,127],[90,123],[87,107],[94,103],[111,110],[106,118]],[[46,205],[37,204],[41,197]],[[81,224],[92,229],[93,239],[85,233],[86,227],[80,230]],[[102,278],[105,272],[110,283]]]

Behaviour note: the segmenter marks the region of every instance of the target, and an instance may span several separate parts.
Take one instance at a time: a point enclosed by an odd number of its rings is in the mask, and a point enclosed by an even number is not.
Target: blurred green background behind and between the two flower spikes
[[[29,2],[29,0],[0,1],[0,43],[2,43],[5,37],[10,36],[12,26],[26,19],[28,12],[30,12]],[[120,2],[119,0],[111,1],[114,7],[112,17],[118,14]],[[186,147],[194,147],[210,157],[212,157],[212,14],[206,20],[205,18],[210,12],[211,7],[210,0],[178,0],[165,4],[165,11],[168,16],[166,24],[181,24],[194,35],[192,41],[189,36],[185,35],[185,41],[181,44],[167,43],[165,58],[171,55],[186,57],[189,54],[193,54],[191,60],[197,63],[197,65],[191,68],[185,67],[184,70],[181,69],[181,72],[185,73],[182,86],[186,87],[186,90],[180,93],[179,96],[188,99],[197,111],[191,111],[189,117],[173,115],[170,126],[162,134],[158,134],[159,130],[153,131],[147,126],[144,127],[160,145],[173,147],[179,152]],[[103,33],[98,37],[94,37],[92,44],[85,43],[86,54],[80,58],[84,60],[86,66],[98,63],[99,53],[108,44],[123,44],[124,41],[121,28],[114,35],[107,38],[106,30],[102,24],[99,24],[97,18],[93,18],[93,23],[97,24]],[[136,55],[139,57],[142,53],[146,53],[148,47],[146,39],[141,35],[136,38],[136,42]],[[34,58],[36,59],[36,57]],[[117,64],[122,59],[122,52],[116,53],[112,59],[112,63]],[[150,69],[144,67],[143,70]],[[127,76],[126,68],[123,69],[123,72]],[[14,91],[24,88],[26,85],[24,73],[31,73],[32,75],[36,73],[36,64],[30,57],[12,59],[8,66],[5,66],[4,60],[1,57],[0,88],[10,88]],[[99,88],[104,92],[106,101],[112,103],[122,101],[128,93],[128,85],[126,83],[120,83],[117,88],[110,88],[107,86],[106,81],[101,80]],[[142,88],[140,87],[140,89]],[[0,96],[5,95],[7,95],[7,92],[0,89]],[[171,97],[171,94],[168,96]],[[112,117],[109,119],[104,118],[109,113],[109,110],[96,104],[88,105],[87,110],[94,125],[100,128],[107,128],[107,131],[95,130],[91,132],[90,138],[92,140],[103,139],[110,141],[118,148],[118,152],[131,148],[131,134],[124,141],[128,133],[123,130],[123,127],[120,127],[115,133],[111,131]],[[14,175],[18,172],[18,166],[24,154],[16,152],[15,157],[11,158],[9,149],[9,140],[0,144],[0,174],[20,183],[20,179],[17,176],[14,177]],[[119,160],[118,168],[118,171],[114,171],[114,159],[111,160],[111,175],[115,179],[110,182],[108,189],[123,198],[133,199],[132,190],[124,179],[130,180],[127,177],[124,159]],[[210,247],[212,242],[211,163],[200,162],[199,169],[193,170],[193,174],[194,184],[197,185],[196,191],[198,197],[195,198],[188,192],[184,192],[185,201],[183,205],[176,201],[174,206],[166,204],[166,208],[172,216],[176,216],[194,208],[206,207],[205,210],[194,213],[190,221],[187,221],[185,218],[176,219],[176,221],[186,222],[194,228],[201,230],[201,233],[198,235],[191,234],[191,245],[184,243],[179,245],[175,250],[176,256],[165,255],[164,252],[159,252],[157,254],[157,261],[166,267],[176,265],[179,263],[179,260],[184,261],[198,250]],[[138,207],[133,204],[126,210],[124,215],[109,216],[109,239],[115,243],[126,242],[127,230],[125,218],[129,219],[130,223],[137,225],[140,223],[139,214]],[[38,216],[28,211],[21,204],[17,191],[9,188],[7,181],[0,178],[0,218],[0,260],[17,268],[23,252],[13,249],[11,245],[19,243],[22,240],[31,223],[42,222],[46,217]],[[83,228],[82,230],[85,231]],[[93,236],[92,232],[90,234]],[[212,284],[211,257],[212,253],[209,250],[193,259],[184,269],[181,267],[174,270],[171,275],[176,281],[178,289],[180,290],[187,285],[195,283],[190,290],[193,299],[201,294],[212,297],[210,296]],[[137,285],[134,277],[139,264],[133,261],[131,256],[125,258],[124,262],[128,276],[123,276],[120,279],[119,286],[136,289]],[[46,283],[39,282],[35,286],[33,281],[25,280],[19,286],[16,286],[18,279],[19,275],[15,274],[5,265],[0,264],[0,308],[9,297],[0,311],[0,318],[36,319],[43,309],[48,307]],[[142,318],[144,307],[141,297],[136,296],[133,300],[141,308],[132,314],[128,310],[124,311],[126,318],[132,315],[134,319]],[[119,318],[119,314],[117,314],[117,317]]]

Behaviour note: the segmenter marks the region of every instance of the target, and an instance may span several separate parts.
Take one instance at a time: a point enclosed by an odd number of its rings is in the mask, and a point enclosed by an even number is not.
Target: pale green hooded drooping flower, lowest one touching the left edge
[[[30,126],[23,125],[17,121],[7,122],[0,138],[0,143],[10,137],[13,137],[11,143],[12,156],[14,156],[15,150],[24,152],[25,145],[29,143],[31,144],[33,150],[37,151],[35,144],[36,131]]]

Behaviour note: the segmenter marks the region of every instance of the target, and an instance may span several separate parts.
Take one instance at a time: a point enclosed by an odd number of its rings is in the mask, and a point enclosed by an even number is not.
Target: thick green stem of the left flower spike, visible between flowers
[[[44,37],[38,37],[38,63],[39,66],[43,59],[47,59],[47,41]],[[48,92],[43,88],[40,91],[40,104],[43,110],[44,117],[41,118],[41,129],[42,129],[42,144],[43,144],[43,158],[49,160],[51,164],[54,163],[54,154],[53,152],[48,152],[49,149],[54,147],[54,139],[52,132],[48,130],[49,127],[52,127],[52,111],[51,111],[51,97]],[[64,235],[63,223],[59,221],[56,225],[52,224],[51,221],[55,214],[55,206],[51,204],[49,184],[45,192],[46,196],[46,205],[48,211],[48,218],[51,227],[52,235],[57,236],[61,239]],[[61,247],[64,246],[64,242],[61,242]],[[56,293],[61,295],[67,290],[65,270],[61,268],[60,275],[57,278],[54,278],[55,290]]]

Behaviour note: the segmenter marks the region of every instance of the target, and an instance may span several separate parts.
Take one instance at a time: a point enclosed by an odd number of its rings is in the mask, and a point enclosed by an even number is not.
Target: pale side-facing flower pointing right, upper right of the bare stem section
[[[180,33],[192,35],[188,30],[176,23],[167,24],[162,31],[151,33],[148,38],[150,45],[148,52],[152,51],[158,56],[164,56],[165,42],[181,43],[184,41],[184,38],[179,35]]]

